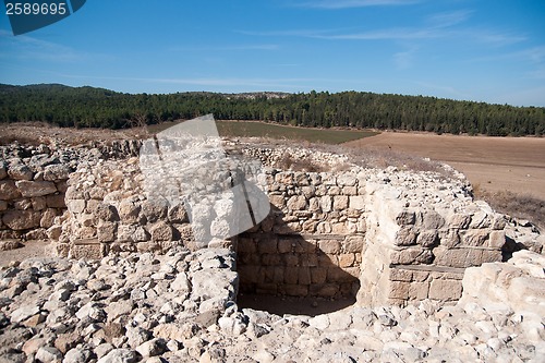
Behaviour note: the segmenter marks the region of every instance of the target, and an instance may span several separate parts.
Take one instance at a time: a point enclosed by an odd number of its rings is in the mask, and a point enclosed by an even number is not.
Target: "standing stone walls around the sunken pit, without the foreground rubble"
[[[270,213],[257,226],[204,246],[183,206],[147,199],[137,158],[99,160],[70,177],[68,210],[48,229],[56,252],[98,259],[173,246],[230,249],[241,292],[354,297],[363,306],[453,302],[465,268],[502,261],[506,219],[474,202],[463,179],[355,166],[283,171],[275,162],[286,153],[300,157],[296,150],[243,153],[270,166],[262,176]],[[335,161],[328,155],[323,162]]]

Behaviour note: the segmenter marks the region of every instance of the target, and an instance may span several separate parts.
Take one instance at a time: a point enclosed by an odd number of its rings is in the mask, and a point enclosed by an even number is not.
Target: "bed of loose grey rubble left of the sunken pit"
[[[0,361],[198,360],[218,318],[246,327],[233,269],[226,249],[14,263],[0,270]]]

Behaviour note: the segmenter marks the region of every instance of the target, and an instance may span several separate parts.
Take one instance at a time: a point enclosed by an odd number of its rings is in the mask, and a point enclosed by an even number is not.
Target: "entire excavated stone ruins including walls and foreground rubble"
[[[545,356],[545,240],[452,168],[179,144],[1,147],[1,247],[44,249],[0,270],[0,362]]]

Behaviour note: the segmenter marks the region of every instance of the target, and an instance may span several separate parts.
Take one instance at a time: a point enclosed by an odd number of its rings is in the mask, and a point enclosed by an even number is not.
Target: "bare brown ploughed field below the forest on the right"
[[[488,192],[508,190],[545,199],[545,138],[384,132],[344,145],[445,161]]]

